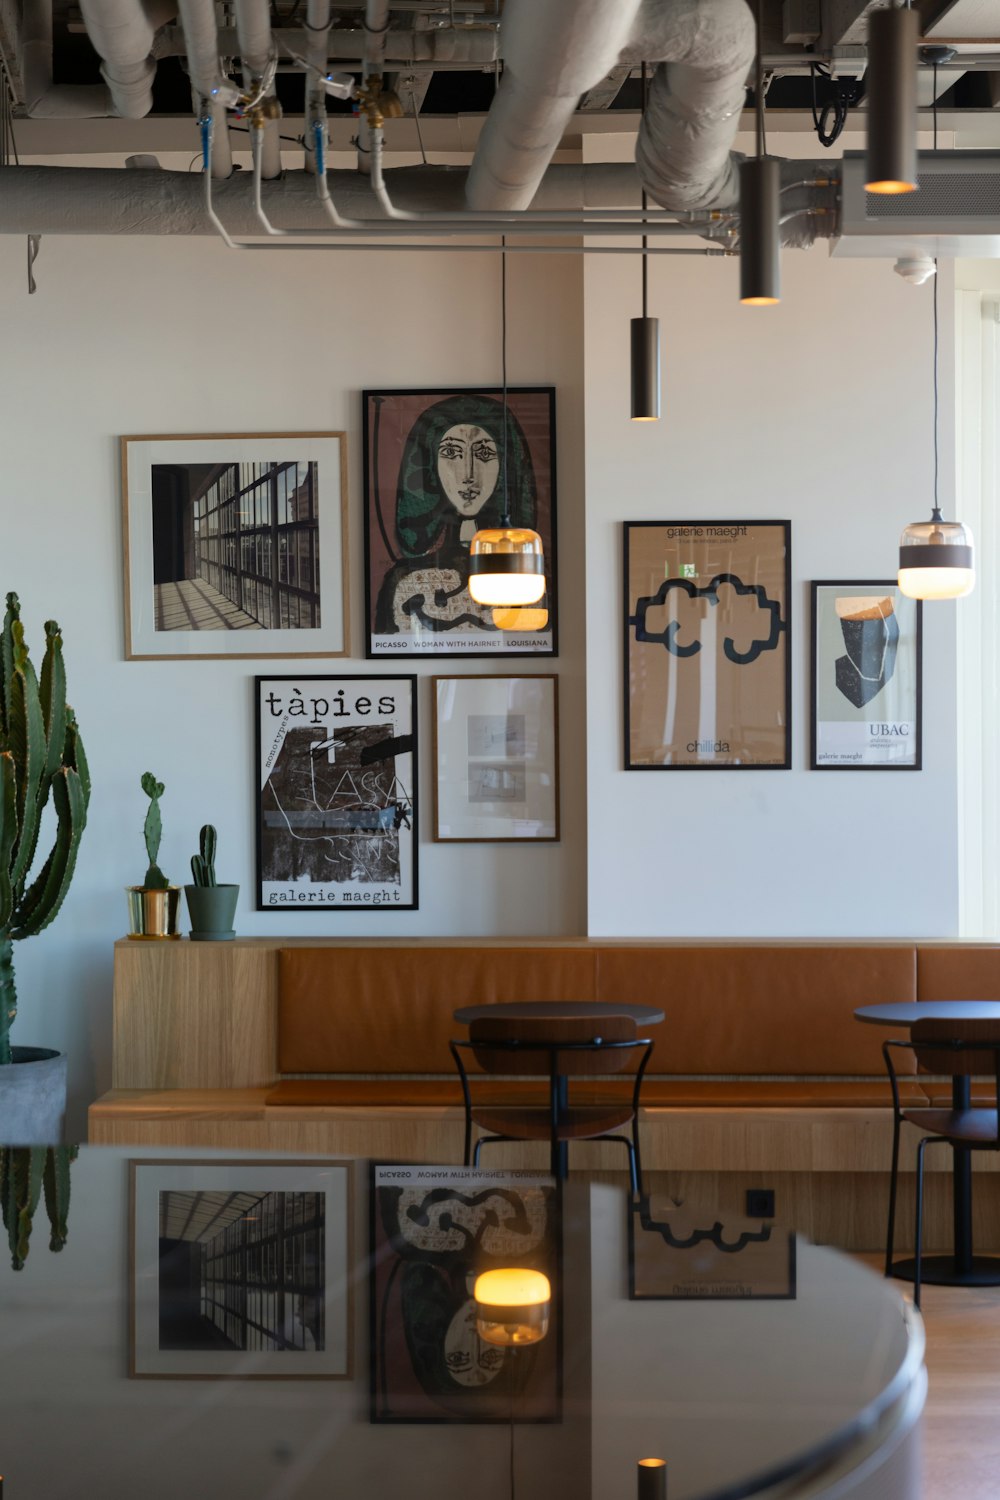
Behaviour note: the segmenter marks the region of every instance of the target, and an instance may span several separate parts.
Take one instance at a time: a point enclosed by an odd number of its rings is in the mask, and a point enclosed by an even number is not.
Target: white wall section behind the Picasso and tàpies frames
[[[70,1053],[72,1128],[109,1086],[111,944],[123,886],[145,868],[139,776],[166,783],[160,864],[183,880],[198,828],[219,828],[219,870],[243,886],[241,933],[379,934],[585,930],[582,320],[579,256],[511,256],[510,380],[558,388],[562,842],[447,846],[430,838],[430,687],[418,698],[420,910],[253,910],[255,662],[123,658],[120,434],[342,429],[351,459],[355,660],[306,670],[510,672],[517,663],[363,660],[363,387],[499,380],[492,255],[237,255],[214,240],[42,243],[28,297],[24,242],[0,238],[0,591],[21,596],[28,642],[54,616],[93,768],[75,884],[43,938],[18,945],[15,1041]]]

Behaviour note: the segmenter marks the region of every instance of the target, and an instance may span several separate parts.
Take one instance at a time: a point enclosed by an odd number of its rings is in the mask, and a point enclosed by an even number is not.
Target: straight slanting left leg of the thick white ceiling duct
[[[469,171],[469,208],[526,208],[580,94],[618,63],[639,0],[507,0],[504,78]]]

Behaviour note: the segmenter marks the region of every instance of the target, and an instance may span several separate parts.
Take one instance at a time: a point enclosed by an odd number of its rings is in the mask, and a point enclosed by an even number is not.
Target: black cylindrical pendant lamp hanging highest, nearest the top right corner
[[[900,194],[916,178],[916,10],[868,14],[868,192]]]

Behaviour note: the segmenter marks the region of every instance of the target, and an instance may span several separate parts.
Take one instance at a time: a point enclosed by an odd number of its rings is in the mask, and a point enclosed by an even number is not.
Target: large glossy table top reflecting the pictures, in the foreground
[[[39,1203],[0,1262],[4,1500],[633,1500],[643,1456],[670,1500],[819,1496],[769,1486],[921,1389],[891,1282],[655,1179],[82,1148],[70,1180],[66,1246]],[[516,1353],[471,1302],[504,1264],[553,1287]]]

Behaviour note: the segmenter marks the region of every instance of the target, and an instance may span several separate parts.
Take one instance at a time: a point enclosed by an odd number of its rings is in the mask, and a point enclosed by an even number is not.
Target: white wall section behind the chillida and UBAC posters
[[[880,579],[930,516],[931,288],[891,261],[786,252],[783,302],[738,262],[651,262],[663,420],[628,422],[639,272],[588,258],[588,832],[594,934],[958,930],[955,604],[925,608],[924,771],[808,766],[810,579]],[[942,496],[952,508],[952,297],[942,267]],[[622,522],[792,520],[793,770],[622,770]]]

